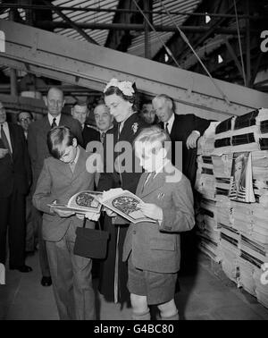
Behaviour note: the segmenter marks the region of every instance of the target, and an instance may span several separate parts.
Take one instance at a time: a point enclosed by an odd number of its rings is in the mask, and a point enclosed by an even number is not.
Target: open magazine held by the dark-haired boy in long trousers
[[[85,190],[71,196],[67,205],[65,204],[48,204],[48,207],[56,207],[61,210],[70,210],[80,214],[88,212],[99,213],[102,205],[98,201],[102,192]]]

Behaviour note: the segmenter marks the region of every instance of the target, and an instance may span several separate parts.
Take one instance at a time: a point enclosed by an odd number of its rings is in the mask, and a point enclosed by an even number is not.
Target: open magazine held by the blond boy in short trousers
[[[142,199],[139,199],[138,196],[129,190],[116,188],[104,191],[103,195],[98,199],[105,207],[108,207],[116,214],[121,215],[134,224],[138,222],[155,223],[154,219],[143,215],[138,209],[137,206],[142,202]]]

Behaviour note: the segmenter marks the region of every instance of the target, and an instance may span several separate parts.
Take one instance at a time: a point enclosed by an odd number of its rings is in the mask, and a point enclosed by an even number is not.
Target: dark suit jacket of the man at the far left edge
[[[13,158],[8,154],[0,158],[0,197],[7,198],[13,187],[26,195],[30,184],[30,165],[26,141],[21,126],[8,123]],[[0,221],[1,222],[1,221]]]

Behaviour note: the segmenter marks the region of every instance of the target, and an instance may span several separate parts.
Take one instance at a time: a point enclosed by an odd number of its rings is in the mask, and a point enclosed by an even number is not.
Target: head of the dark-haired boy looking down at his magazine
[[[60,159],[63,156],[65,148],[72,145],[74,136],[68,127],[54,127],[47,132],[47,147],[51,156]]]

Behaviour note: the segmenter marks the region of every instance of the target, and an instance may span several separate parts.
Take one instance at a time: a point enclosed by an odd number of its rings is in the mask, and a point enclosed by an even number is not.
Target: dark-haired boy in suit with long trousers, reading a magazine
[[[89,258],[73,254],[75,231],[82,226],[71,211],[48,207],[55,201],[67,204],[75,193],[94,190],[94,173],[88,173],[88,154],[78,146],[67,127],[55,127],[47,134],[51,157],[44,161],[33,204],[43,214],[43,237],[51,271],[54,297],[60,319],[95,319],[95,295]],[[88,216],[89,217],[89,216]],[[97,220],[98,215],[92,215]],[[87,221],[86,227],[94,228]]]

